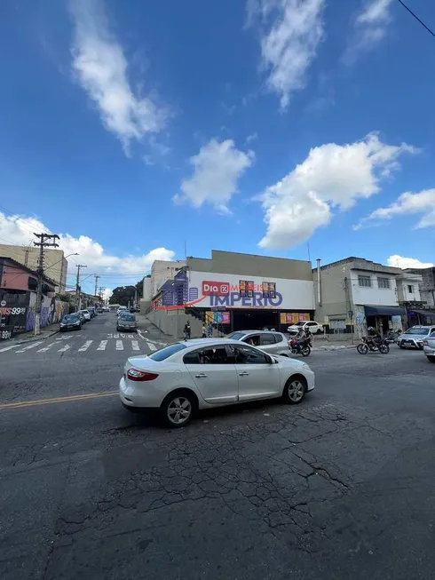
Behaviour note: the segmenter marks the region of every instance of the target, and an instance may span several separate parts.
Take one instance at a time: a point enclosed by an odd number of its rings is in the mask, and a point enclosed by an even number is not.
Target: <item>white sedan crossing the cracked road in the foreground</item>
[[[119,383],[125,408],[161,409],[171,427],[187,425],[196,409],[277,397],[297,404],[313,388],[305,362],[228,338],[187,340],[132,356]]]

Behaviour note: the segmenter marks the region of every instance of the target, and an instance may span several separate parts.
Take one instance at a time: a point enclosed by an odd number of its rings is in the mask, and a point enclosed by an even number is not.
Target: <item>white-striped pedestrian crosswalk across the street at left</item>
[[[123,351],[131,352],[136,354],[151,354],[154,353],[162,346],[166,346],[166,343],[162,341],[151,341],[151,340],[138,340],[134,338],[134,335],[123,335],[123,338],[115,338],[119,335],[112,335],[113,338],[106,338],[103,340],[88,339],[84,340],[80,336],[68,335],[67,337],[61,336],[55,338],[54,340],[37,340],[28,345],[11,345],[0,349],[0,353],[12,352],[12,354],[83,354],[83,353],[93,353],[96,354],[104,352],[113,351]],[[131,337],[131,338],[130,338]]]

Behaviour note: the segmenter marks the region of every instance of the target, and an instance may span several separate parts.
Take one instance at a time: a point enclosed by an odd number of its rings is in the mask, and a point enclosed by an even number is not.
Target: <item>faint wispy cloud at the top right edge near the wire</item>
[[[374,50],[384,38],[392,20],[393,0],[365,0],[353,20],[352,36],[344,52],[344,62],[352,64],[362,52]]]

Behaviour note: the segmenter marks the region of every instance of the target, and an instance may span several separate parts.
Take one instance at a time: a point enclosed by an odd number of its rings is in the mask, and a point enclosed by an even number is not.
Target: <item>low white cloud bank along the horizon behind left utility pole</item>
[[[5,216],[0,212],[0,242],[10,242],[15,245],[28,245],[36,240],[32,232],[51,233],[50,229],[37,218],[24,216]],[[95,242],[87,235],[78,238],[70,234],[59,234],[59,250],[64,250],[65,255],[78,253],[76,257],[80,264],[88,266],[87,271],[123,273],[123,274],[146,274],[154,260],[171,260],[175,252],[166,248],[154,248],[144,254],[128,255],[125,257],[107,253],[99,242]],[[70,273],[71,274],[71,271]]]

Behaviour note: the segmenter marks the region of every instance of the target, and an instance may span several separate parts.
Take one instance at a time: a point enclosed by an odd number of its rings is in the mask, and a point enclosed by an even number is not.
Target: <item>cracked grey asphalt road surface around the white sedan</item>
[[[76,335],[0,352],[2,580],[435,577],[435,365],[422,353],[315,352],[302,405],[219,409],[171,431],[113,394],[156,331],[115,338],[101,314]]]

